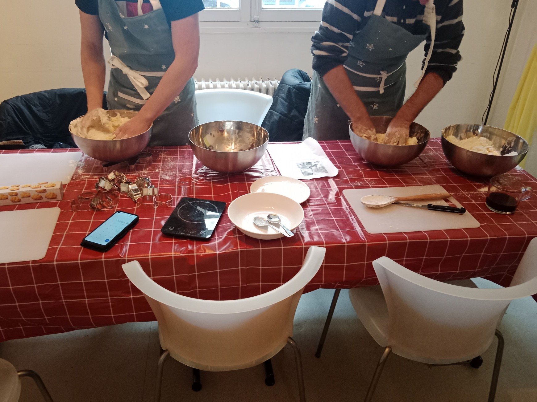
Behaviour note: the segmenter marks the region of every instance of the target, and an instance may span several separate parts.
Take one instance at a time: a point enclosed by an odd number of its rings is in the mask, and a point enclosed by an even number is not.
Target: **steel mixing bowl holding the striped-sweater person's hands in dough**
[[[386,132],[388,124],[393,117],[389,116],[371,116],[376,132]],[[393,167],[404,165],[415,159],[423,152],[431,133],[423,125],[412,123],[410,125],[410,137],[416,137],[416,145],[389,145],[379,144],[356,135],[349,125],[349,136],[352,145],[358,155],[374,165]]]

